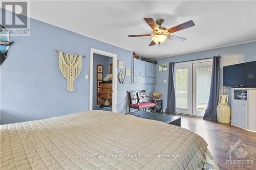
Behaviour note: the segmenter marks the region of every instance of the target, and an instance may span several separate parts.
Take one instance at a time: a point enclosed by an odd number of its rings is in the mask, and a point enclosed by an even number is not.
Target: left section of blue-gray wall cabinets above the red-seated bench
[[[146,62],[133,58],[133,83],[146,83]]]

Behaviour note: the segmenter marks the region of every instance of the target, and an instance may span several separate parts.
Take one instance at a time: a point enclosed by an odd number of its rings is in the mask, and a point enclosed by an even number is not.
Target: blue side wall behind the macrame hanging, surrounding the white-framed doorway
[[[15,43],[1,65],[1,124],[89,110],[89,80],[84,75],[90,72],[90,48],[117,54],[126,68],[132,67],[129,50],[35,19],[30,19],[30,30],[30,36],[10,37]],[[74,92],[67,91],[67,79],[61,75],[58,54],[54,51],[69,47],[87,56],[82,59]],[[150,93],[154,86],[132,84],[131,76],[125,78],[124,84],[118,83],[117,112],[126,113],[126,91],[140,89]]]

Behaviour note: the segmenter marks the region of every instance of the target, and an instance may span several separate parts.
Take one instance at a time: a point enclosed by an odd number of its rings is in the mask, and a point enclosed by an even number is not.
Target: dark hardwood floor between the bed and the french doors
[[[181,116],[181,127],[191,130],[198,135],[202,136],[208,143],[208,150],[211,152],[217,161],[220,169],[256,169],[256,133],[249,132],[244,129],[227,125],[206,121],[199,117]],[[230,149],[230,144],[235,144],[239,139],[246,145],[240,143],[238,147],[242,147],[245,155],[242,160],[253,160],[254,166],[235,167],[227,166],[226,160],[229,160],[227,152]],[[251,154],[251,153],[252,154]],[[232,155],[231,160],[240,160]]]

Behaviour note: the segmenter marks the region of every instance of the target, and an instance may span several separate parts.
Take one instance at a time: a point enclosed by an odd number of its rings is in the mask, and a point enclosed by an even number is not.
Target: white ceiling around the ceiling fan
[[[256,40],[255,1],[32,1],[32,18],[135,51],[147,58],[173,56]],[[151,37],[143,20],[164,18],[170,28],[188,20],[195,27],[173,35],[184,42],[166,40],[148,46]]]

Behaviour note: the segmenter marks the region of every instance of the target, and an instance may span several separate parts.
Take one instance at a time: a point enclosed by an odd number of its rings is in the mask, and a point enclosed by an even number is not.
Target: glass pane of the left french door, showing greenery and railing
[[[188,109],[188,68],[176,69],[176,108]]]

